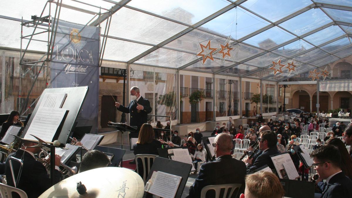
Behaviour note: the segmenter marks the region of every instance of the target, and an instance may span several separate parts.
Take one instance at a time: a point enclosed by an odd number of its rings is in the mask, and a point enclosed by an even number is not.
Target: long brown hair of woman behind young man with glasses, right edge
[[[339,138],[330,138],[325,142],[325,145],[333,145],[337,147],[341,154],[341,170],[349,178],[352,178],[352,159],[348,154],[345,143]]]

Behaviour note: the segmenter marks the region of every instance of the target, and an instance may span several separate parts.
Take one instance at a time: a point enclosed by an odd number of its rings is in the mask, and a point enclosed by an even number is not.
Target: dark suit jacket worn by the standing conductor
[[[141,110],[139,113],[137,112],[137,103],[143,105],[144,107],[144,109]],[[140,127],[144,123],[147,123],[147,115],[148,113],[152,112],[152,107],[150,107],[148,99],[140,97],[137,102],[135,100],[132,100],[127,107],[120,105],[118,110],[124,113],[130,113],[130,125],[138,126],[139,131]]]

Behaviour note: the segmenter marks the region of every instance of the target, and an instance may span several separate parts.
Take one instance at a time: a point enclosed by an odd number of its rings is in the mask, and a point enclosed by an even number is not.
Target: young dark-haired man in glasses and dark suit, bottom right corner
[[[333,145],[312,151],[313,167],[319,174],[316,180],[323,191],[321,198],[352,197],[352,181],[341,171],[341,154]],[[322,179],[325,179],[324,183]]]

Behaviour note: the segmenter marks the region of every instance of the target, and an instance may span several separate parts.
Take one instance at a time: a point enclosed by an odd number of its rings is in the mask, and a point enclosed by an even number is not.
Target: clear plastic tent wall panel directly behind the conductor
[[[171,116],[171,124],[176,124],[176,70],[130,65],[130,88],[133,86],[137,86],[142,97],[149,100],[152,107],[150,115]],[[148,116],[148,122],[153,126],[157,121],[166,126],[170,120],[166,117]]]

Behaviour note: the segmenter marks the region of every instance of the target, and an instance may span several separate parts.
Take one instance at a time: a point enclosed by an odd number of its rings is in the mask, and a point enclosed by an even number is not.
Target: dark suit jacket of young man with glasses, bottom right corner
[[[321,184],[322,182],[319,182]],[[321,185],[319,185],[321,186]],[[348,198],[352,197],[352,181],[345,173],[341,172],[329,180],[325,186],[321,198]]]

